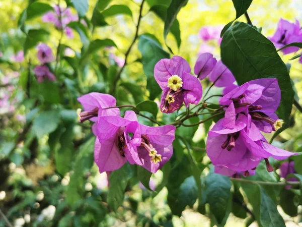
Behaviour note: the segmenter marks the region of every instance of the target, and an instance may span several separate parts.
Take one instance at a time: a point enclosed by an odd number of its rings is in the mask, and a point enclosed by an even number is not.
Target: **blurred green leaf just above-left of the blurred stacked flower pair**
[[[49,32],[44,29],[31,29],[28,31],[28,35],[26,37],[24,43],[24,55],[26,55],[27,51],[36,46],[38,42],[48,40]]]

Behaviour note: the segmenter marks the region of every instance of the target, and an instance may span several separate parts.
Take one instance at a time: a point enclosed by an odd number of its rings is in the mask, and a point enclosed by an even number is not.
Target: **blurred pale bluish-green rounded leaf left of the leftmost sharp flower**
[[[41,112],[34,120],[33,130],[40,139],[44,135],[56,130],[60,122],[60,113],[57,110],[46,110]]]

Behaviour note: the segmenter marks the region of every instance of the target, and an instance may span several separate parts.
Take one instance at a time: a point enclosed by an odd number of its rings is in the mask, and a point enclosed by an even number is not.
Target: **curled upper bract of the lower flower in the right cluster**
[[[239,115],[238,119],[235,122],[235,125],[234,125],[233,129],[226,128],[224,126],[224,121],[225,121],[224,118],[220,119],[214,125],[214,127],[211,129],[209,134],[211,132],[213,132],[215,134],[231,134],[231,133],[239,132],[240,130],[243,130],[247,126],[247,117],[245,115]]]

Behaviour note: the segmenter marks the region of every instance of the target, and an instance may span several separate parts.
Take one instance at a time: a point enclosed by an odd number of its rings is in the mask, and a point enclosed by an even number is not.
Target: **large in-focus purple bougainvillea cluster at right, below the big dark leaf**
[[[283,121],[274,113],[280,97],[277,79],[270,78],[247,82],[220,99],[224,118],[209,131],[206,144],[216,173],[249,176],[262,159],[271,172],[269,157],[283,160],[294,154],[272,146],[261,134],[282,127]]]

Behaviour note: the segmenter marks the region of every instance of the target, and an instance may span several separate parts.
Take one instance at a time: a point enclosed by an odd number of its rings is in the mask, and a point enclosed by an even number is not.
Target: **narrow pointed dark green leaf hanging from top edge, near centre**
[[[174,21],[176,20],[177,14],[179,13],[180,9],[184,7],[187,3],[188,0],[172,0],[169,8],[167,9],[167,14],[166,14],[167,16],[165,19],[165,27],[164,27],[165,42],[166,42],[167,35],[171,27],[173,26]]]

